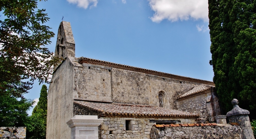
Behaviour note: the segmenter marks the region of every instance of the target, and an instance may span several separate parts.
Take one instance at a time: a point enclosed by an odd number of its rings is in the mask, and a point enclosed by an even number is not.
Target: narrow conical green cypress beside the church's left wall
[[[47,87],[42,86],[39,102],[33,109],[32,116],[29,117],[30,128],[27,134],[28,138],[45,139],[46,138],[46,120],[47,120]]]

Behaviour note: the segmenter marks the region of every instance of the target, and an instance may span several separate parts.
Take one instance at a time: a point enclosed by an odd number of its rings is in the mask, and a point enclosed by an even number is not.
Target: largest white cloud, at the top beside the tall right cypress
[[[208,21],[208,0],[149,0],[151,9],[155,12],[150,19],[161,22],[168,19],[177,20],[202,19]]]

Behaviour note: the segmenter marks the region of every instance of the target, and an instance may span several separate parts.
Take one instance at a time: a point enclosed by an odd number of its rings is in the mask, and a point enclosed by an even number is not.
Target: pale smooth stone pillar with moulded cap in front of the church
[[[103,119],[93,115],[75,115],[68,122],[71,139],[98,139],[98,126]]]

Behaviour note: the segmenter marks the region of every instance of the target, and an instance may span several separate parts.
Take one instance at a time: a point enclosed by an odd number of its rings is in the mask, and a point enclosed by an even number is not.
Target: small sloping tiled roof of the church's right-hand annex
[[[186,98],[188,96],[195,96],[195,95],[203,93],[206,90],[214,89],[214,88],[215,88],[215,86],[211,86],[211,85],[204,85],[204,84],[196,85],[196,86],[188,89],[186,92],[182,93],[180,96],[178,96],[177,100],[179,100],[181,98]]]

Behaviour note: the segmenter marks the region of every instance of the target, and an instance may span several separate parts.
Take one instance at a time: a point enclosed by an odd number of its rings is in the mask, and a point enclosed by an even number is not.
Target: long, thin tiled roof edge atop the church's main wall
[[[94,65],[102,65],[102,66],[108,66],[108,67],[113,67],[113,68],[119,68],[122,70],[141,72],[141,73],[163,76],[163,77],[173,78],[173,79],[178,79],[178,80],[186,80],[186,81],[191,81],[191,82],[204,83],[207,85],[214,85],[214,83],[211,81],[189,78],[189,77],[184,77],[184,76],[179,76],[179,75],[174,75],[174,74],[169,74],[169,73],[164,73],[164,72],[158,72],[158,71],[153,71],[153,70],[147,70],[145,68],[116,64],[116,63],[112,63],[112,62],[96,60],[96,59],[91,59],[91,58],[86,58],[86,57],[82,57],[79,60],[79,63],[80,64],[89,63],[89,64],[94,64]]]

